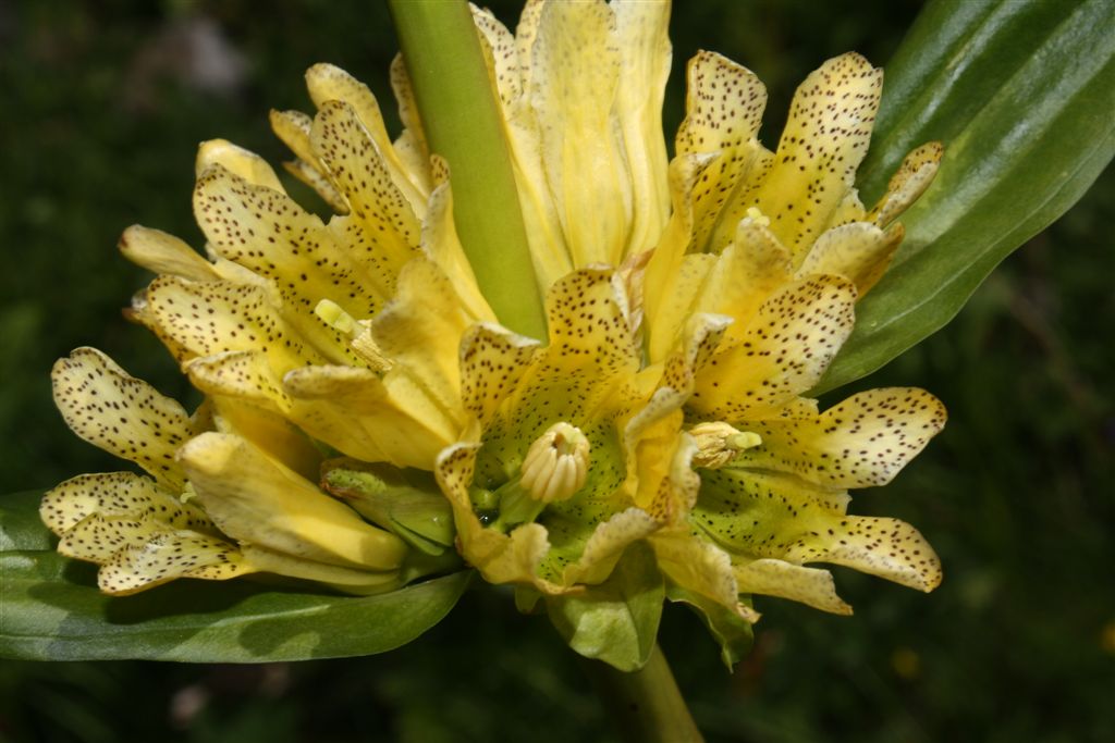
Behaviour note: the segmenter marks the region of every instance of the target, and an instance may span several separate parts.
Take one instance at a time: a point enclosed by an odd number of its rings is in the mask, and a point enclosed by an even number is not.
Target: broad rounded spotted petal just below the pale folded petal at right
[[[697,372],[690,408],[733,424],[776,414],[821,379],[852,332],[854,305],[855,287],[838,276],[785,286]]]

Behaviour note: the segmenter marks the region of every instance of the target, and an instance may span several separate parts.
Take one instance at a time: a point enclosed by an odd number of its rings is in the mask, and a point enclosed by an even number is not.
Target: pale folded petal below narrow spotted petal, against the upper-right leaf
[[[883,231],[870,222],[826,229],[805,255],[797,276],[837,274],[853,282],[863,296],[883,277],[903,235],[900,224]]]

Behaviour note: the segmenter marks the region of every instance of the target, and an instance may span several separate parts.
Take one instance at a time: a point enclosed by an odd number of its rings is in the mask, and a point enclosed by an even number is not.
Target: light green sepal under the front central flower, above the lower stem
[[[649,545],[627,548],[612,575],[580,594],[546,598],[550,620],[569,646],[624,672],[650,659],[666,588]]]

